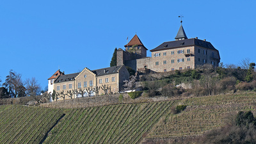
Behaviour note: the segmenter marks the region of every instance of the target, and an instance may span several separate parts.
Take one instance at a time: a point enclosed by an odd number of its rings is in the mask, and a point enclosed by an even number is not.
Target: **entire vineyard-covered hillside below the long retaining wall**
[[[0,143],[182,142],[225,125],[232,111],[255,115],[255,96],[251,92],[73,109],[0,106]],[[180,104],[187,108],[173,114],[172,107]]]

